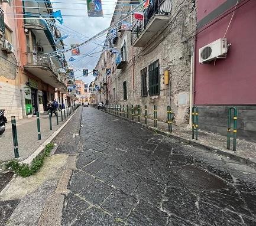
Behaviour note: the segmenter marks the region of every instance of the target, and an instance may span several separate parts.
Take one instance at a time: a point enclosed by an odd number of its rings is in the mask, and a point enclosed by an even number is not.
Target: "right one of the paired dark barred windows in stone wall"
[[[150,96],[160,94],[160,74],[158,60],[148,66]]]

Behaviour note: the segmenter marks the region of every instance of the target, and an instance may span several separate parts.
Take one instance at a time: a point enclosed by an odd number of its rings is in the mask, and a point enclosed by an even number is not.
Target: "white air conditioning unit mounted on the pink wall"
[[[209,63],[216,58],[226,58],[226,53],[228,53],[226,38],[219,38],[218,40],[199,48],[199,63]]]

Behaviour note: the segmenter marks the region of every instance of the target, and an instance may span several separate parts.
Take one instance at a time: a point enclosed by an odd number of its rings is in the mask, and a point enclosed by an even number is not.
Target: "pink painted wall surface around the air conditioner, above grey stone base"
[[[198,21],[223,2],[198,0]],[[232,44],[227,58],[216,60],[215,65],[213,62],[199,63],[199,48],[223,38],[231,17],[232,13],[199,30],[196,38],[195,104],[256,104],[256,1],[249,1],[236,9],[226,34],[228,43]]]

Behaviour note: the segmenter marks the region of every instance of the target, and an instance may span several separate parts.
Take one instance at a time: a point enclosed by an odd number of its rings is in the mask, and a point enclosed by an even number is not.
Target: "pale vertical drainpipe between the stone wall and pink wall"
[[[192,126],[192,107],[194,103],[194,86],[195,86],[195,47],[196,41],[192,47],[190,59],[190,97],[189,97],[189,125]]]

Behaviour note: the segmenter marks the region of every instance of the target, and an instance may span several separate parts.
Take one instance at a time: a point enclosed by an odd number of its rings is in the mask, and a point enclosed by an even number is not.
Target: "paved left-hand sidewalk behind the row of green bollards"
[[[57,118],[52,117],[51,122],[53,130],[50,130],[49,116],[47,113],[40,114],[41,140],[37,135],[37,117],[30,119],[21,119],[17,121],[18,146],[20,160],[28,158],[44,141],[48,139],[56,130],[58,130],[69,118],[66,116],[61,122],[61,113],[59,112],[59,125]],[[73,115],[73,114],[72,114]],[[11,122],[7,123],[7,128],[2,136],[0,136],[0,162],[8,161],[14,158],[14,146],[12,140]]]

